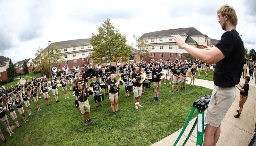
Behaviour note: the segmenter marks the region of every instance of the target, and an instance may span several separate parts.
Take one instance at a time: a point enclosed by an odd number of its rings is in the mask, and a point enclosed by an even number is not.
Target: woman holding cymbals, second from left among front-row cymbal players
[[[128,65],[128,64],[127,64]],[[111,102],[111,108],[113,111],[114,116],[116,115],[116,113],[120,113],[118,111],[118,90],[115,91],[115,86],[118,86],[118,84],[116,84],[116,79],[115,79],[115,75],[114,74],[110,74],[110,80],[108,81],[108,91],[109,91],[109,100]],[[116,108],[116,110],[115,110]]]

